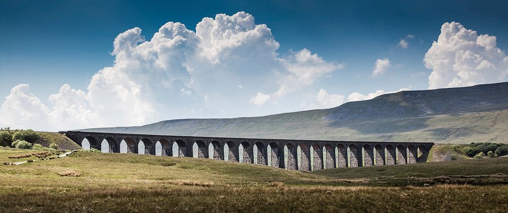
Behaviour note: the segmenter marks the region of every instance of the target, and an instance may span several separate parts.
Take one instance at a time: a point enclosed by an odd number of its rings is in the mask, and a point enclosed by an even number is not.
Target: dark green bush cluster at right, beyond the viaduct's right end
[[[462,149],[469,157],[495,158],[508,155],[508,144],[504,143],[471,143]],[[487,154],[487,155],[486,155]]]

